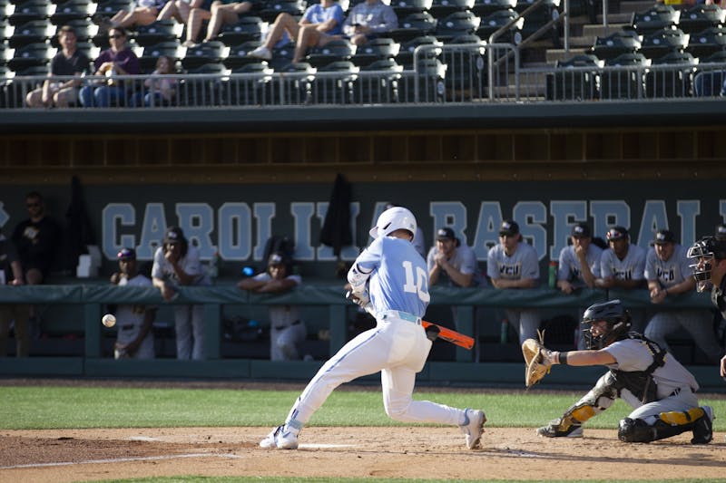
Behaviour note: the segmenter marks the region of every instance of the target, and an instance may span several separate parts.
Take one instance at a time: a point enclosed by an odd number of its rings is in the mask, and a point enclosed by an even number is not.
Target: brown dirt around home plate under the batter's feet
[[[532,429],[486,430],[468,451],[452,428],[308,428],[297,451],[260,449],[269,428],[0,430],[0,481],[152,476],[378,478],[723,478],[723,433],[625,444],[613,430],[543,440]]]

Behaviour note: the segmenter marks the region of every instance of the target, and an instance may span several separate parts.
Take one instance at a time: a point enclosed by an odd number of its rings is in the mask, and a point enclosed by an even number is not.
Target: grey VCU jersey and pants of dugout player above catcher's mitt
[[[534,246],[526,242],[520,242],[516,246],[515,253],[507,256],[502,244],[497,244],[489,249],[486,257],[486,275],[496,280],[499,278],[509,280],[521,280],[523,278],[534,278],[539,280],[539,257]],[[539,311],[536,309],[506,308],[505,314],[509,324],[519,334],[519,344],[526,339],[537,339],[537,329],[542,322]]]

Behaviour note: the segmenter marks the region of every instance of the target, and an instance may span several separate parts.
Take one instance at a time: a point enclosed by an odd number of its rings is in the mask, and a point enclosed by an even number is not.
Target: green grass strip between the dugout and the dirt
[[[0,429],[164,428],[274,426],[285,419],[299,391],[148,389],[89,387],[0,387]],[[541,426],[562,414],[582,393],[487,393],[417,391],[414,397],[460,408],[482,408],[487,426]],[[726,399],[701,399],[726,415]],[[590,428],[617,428],[630,411],[623,401],[590,420]],[[334,391],[310,426],[397,426],[383,411],[376,388]],[[726,430],[726,418],[714,421]]]

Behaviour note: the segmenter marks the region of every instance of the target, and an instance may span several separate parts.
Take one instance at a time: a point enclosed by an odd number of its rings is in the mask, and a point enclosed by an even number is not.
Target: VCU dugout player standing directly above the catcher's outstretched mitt
[[[539,256],[535,248],[522,239],[519,225],[505,219],[499,227],[499,243],[489,249],[486,275],[497,289],[535,288],[539,285]],[[506,308],[506,319],[519,335],[519,343],[537,338],[542,322],[539,311],[525,308]]]

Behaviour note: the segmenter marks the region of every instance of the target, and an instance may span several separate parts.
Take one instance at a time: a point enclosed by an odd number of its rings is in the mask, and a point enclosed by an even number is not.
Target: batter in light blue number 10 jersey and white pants
[[[381,372],[383,405],[394,420],[458,425],[466,447],[478,446],[486,421],[483,411],[460,410],[431,401],[414,401],[431,340],[421,326],[429,302],[428,274],[413,240],[416,218],[402,207],[384,211],[370,235],[375,239],[348,271],[354,300],[371,305],[376,327],[346,343],[300,394],[280,427],[260,441],[262,448],[297,449],[300,430],[330,393],[344,382]]]

